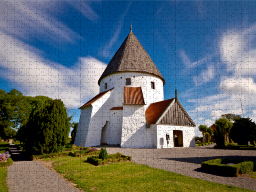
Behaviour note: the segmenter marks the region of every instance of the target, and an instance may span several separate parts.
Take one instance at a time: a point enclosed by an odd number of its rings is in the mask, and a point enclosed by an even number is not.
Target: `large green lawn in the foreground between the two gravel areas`
[[[88,156],[48,158],[64,178],[84,191],[251,191],[133,162],[95,166]]]

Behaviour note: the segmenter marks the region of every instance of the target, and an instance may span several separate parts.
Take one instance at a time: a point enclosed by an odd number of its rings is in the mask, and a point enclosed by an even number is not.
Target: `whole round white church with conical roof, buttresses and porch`
[[[121,148],[195,147],[196,126],[175,97],[164,100],[164,77],[131,32],[85,103],[75,145]]]

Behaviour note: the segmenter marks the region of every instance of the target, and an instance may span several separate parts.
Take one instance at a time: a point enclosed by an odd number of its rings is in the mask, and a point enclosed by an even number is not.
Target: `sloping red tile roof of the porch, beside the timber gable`
[[[168,108],[168,106],[174,99],[175,98],[151,103],[145,112],[148,124],[156,124],[156,121],[159,119],[160,116],[162,116],[165,109]]]

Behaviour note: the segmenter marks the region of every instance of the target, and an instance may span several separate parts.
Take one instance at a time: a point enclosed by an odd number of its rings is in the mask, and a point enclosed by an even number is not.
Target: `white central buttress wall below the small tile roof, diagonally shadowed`
[[[154,148],[156,129],[147,128],[144,105],[124,105],[121,148]]]

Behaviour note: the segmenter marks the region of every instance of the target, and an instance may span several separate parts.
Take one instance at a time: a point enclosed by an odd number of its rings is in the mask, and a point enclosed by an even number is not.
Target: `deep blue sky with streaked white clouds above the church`
[[[130,31],[196,125],[256,121],[255,1],[1,1],[1,89],[81,105]],[[254,13],[255,12],[255,13]],[[199,132],[196,132],[199,134]]]

